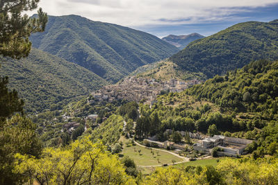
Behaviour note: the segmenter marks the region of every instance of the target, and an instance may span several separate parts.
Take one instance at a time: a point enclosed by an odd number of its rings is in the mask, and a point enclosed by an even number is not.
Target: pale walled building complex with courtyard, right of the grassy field
[[[244,155],[247,145],[252,143],[249,139],[240,139],[222,135],[215,135],[203,139],[201,143],[193,145],[194,150],[199,152],[212,152],[212,149],[218,147],[221,149],[218,155],[236,157],[236,155]]]

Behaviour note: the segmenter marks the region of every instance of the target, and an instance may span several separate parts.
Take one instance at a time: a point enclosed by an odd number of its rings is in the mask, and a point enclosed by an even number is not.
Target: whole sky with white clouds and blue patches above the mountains
[[[158,37],[208,36],[243,21],[278,19],[278,0],[41,0],[39,6],[49,15],[81,15]]]

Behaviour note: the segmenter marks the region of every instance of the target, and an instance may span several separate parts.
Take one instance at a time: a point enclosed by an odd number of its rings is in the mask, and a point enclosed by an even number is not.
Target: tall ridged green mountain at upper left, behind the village
[[[44,33],[35,33],[30,40],[33,47],[79,64],[108,82],[179,51],[154,35],[77,15],[49,16]]]

